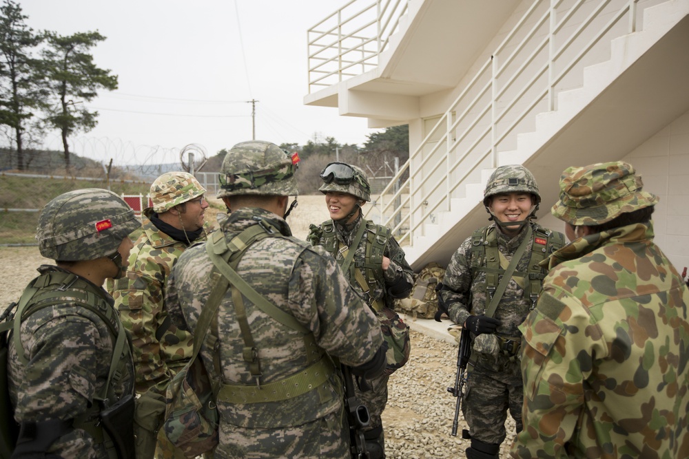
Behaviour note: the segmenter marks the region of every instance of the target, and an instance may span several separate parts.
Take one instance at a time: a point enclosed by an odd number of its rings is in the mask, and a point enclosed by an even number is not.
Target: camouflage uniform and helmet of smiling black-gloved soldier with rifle
[[[509,178],[513,178],[515,182],[510,183]],[[537,202],[539,201],[537,185],[527,169],[522,166],[496,169],[486,185],[486,209],[489,209],[491,196],[513,192],[531,193],[537,198]],[[531,226],[533,233],[549,233],[530,221],[535,209],[537,204],[519,233],[512,237],[500,230],[500,222],[482,228],[486,240],[497,238],[497,250],[506,261],[512,260],[517,248],[526,238],[526,225]],[[491,220],[497,219],[491,217]],[[472,361],[475,365],[471,369],[471,377],[466,382],[462,414],[470,427],[472,448],[475,449],[477,444],[484,443],[491,445],[488,449],[491,449],[493,454],[471,456],[471,451],[467,451],[467,457],[497,457],[499,445],[506,438],[504,425],[507,411],[515,420],[516,430],[522,429],[522,375],[519,354],[515,350],[500,352],[497,348],[500,346],[498,340],[511,339],[517,343],[520,341],[517,326],[524,321],[532,306],[531,299],[524,294],[523,273],[528,271],[530,265],[534,238],[530,237],[526,244],[524,254],[515,269],[515,274],[522,273],[522,277],[515,275],[510,279],[493,314],[502,324],[497,327],[494,334],[479,334],[472,340]],[[486,272],[477,269],[486,266],[486,255],[485,252],[473,250],[473,237],[469,237],[457,248],[447,266],[440,295],[448,306],[447,313],[450,319],[456,323],[464,324],[469,317],[481,316],[488,309],[490,299],[486,295]],[[542,273],[546,273],[546,270]]]

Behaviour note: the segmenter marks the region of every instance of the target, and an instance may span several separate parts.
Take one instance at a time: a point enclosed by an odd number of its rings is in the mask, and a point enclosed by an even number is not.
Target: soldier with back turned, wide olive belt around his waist
[[[181,255],[168,281],[172,320],[192,332],[218,278],[207,250],[229,260],[223,266],[256,292],[247,297],[234,284],[227,290],[208,332],[219,339],[212,345],[207,335],[200,349],[220,385],[216,459],[349,458],[342,382],[331,357],[362,376],[384,369],[376,317],[325,250],[291,237],[283,216],[298,194],[295,171],[270,142],[232,147],[218,193],[232,214],[205,245]]]

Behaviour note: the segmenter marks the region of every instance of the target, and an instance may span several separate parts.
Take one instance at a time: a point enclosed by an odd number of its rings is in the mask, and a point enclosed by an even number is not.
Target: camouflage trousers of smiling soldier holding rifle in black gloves
[[[474,367],[466,381],[462,401],[462,414],[469,424],[471,438],[500,445],[507,436],[508,411],[515,420],[517,432],[521,431],[523,401],[521,374],[495,372],[480,365]]]

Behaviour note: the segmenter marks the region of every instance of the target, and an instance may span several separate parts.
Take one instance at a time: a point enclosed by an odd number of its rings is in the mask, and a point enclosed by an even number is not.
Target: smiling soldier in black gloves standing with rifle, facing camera
[[[462,413],[471,438],[469,459],[498,458],[506,438],[507,410],[522,430],[521,334],[517,325],[533,308],[546,273],[537,266],[564,245],[531,220],[541,201],[536,180],[521,165],[495,169],[484,206],[494,223],[474,231],[452,256],[440,292],[446,312],[471,333],[475,364],[466,383]]]

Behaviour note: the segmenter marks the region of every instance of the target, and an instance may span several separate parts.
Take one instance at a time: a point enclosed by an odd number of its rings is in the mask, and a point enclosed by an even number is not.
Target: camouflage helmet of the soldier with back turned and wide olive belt
[[[240,142],[225,155],[220,169],[218,198],[233,195],[299,194],[296,164],[285,150],[271,142]]]

